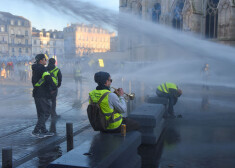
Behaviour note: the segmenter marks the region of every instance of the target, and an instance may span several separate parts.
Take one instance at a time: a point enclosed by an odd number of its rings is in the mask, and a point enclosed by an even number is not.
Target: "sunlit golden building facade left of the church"
[[[64,28],[65,56],[76,57],[110,51],[115,33],[95,26],[72,24]]]

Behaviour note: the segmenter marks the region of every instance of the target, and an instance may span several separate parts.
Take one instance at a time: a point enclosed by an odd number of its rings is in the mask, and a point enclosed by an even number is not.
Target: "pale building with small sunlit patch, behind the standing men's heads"
[[[32,54],[47,54],[50,58],[64,58],[64,39],[61,31],[42,31],[33,28]]]

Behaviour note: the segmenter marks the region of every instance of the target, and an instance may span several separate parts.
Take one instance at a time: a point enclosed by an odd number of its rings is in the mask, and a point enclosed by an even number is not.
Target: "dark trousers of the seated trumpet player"
[[[127,118],[127,117],[123,117],[122,124],[126,124],[126,132],[136,131],[136,130],[140,129],[140,125],[138,122],[136,122],[135,120],[132,120],[130,118]],[[103,132],[105,132],[105,133],[120,133],[121,126],[122,125],[120,125],[115,130],[108,130],[108,131],[103,131]]]

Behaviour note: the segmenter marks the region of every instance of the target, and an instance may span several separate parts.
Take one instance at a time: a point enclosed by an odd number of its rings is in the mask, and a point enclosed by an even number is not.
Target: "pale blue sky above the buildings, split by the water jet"
[[[40,0],[38,0],[40,1]],[[66,0],[65,0],[66,1]],[[118,11],[119,0],[83,0],[97,6]],[[39,8],[24,0],[0,0],[0,11],[10,12],[13,15],[23,16],[30,20],[32,27],[63,30],[67,24],[75,22],[71,18],[58,17],[53,12]]]

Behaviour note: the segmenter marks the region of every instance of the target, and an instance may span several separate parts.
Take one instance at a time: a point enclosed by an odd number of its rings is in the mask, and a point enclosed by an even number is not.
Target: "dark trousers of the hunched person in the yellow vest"
[[[174,105],[177,103],[178,98],[175,97],[173,94],[171,93],[164,93],[164,92],[160,92],[159,90],[157,90],[157,95],[158,97],[165,97],[168,98],[169,100],[169,104],[168,104],[168,113],[170,115],[174,115]]]

